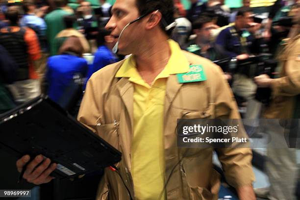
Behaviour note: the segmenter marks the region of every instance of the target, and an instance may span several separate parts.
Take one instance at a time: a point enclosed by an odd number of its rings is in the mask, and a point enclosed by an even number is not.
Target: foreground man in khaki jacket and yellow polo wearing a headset
[[[178,148],[177,119],[240,116],[220,68],[168,39],[173,22],[172,0],[116,0],[112,7],[106,28],[118,40],[119,53],[132,55],[92,75],[78,114],[123,153],[116,167],[124,182],[105,169],[98,200],[218,199],[213,149]],[[186,74],[191,65],[198,74]],[[254,200],[251,150],[216,151],[239,199]],[[24,160],[18,161],[19,170]],[[49,174],[40,176],[24,175],[33,183],[50,181]]]

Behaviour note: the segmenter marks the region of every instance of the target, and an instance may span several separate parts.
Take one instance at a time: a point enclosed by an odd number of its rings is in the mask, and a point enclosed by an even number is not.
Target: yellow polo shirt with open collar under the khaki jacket
[[[186,73],[189,62],[180,47],[168,40],[171,57],[165,69],[148,85],[136,70],[134,56],[125,60],[116,77],[134,83],[131,175],[137,200],[157,200],[165,184],[164,102],[170,74]],[[176,120],[176,119],[174,119]],[[162,200],[166,199],[163,194]]]

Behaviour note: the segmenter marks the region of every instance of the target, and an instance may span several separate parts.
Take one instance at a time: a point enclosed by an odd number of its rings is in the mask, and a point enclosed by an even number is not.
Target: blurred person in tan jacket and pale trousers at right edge
[[[284,49],[279,53],[277,78],[259,75],[254,78],[258,87],[272,89],[272,101],[263,116],[268,119],[300,119],[300,0],[293,8],[295,25],[289,33]],[[257,188],[257,197],[270,200],[296,200],[297,183],[296,139],[291,131],[274,121],[266,125],[265,131],[274,141],[268,145],[266,171],[270,188]],[[299,126],[297,131],[299,131]],[[290,134],[289,140],[284,136]]]

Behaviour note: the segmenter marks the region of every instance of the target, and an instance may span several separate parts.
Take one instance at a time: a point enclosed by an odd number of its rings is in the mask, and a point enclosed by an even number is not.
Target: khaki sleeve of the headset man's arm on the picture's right
[[[218,69],[220,69],[218,67]],[[240,114],[228,83],[218,70],[220,78],[216,84],[215,118],[240,119]],[[222,77],[222,78],[221,78]],[[243,127],[243,126],[242,126]],[[239,128],[239,134],[247,137],[244,128]],[[227,182],[233,187],[251,185],[254,181],[252,171],[252,151],[249,148],[220,148],[216,149]]]

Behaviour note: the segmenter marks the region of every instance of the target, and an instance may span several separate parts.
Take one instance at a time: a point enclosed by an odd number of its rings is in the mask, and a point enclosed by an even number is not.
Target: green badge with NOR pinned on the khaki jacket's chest
[[[177,74],[179,83],[199,82],[206,80],[202,65],[190,65],[190,70],[187,73]]]

